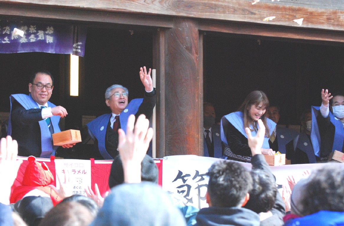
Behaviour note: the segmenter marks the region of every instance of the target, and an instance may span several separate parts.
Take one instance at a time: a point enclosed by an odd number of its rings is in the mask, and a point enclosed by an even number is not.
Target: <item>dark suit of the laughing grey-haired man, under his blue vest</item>
[[[157,101],[155,95],[155,89],[152,92],[145,92],[143,97],[143,101],[139,107],[139,110],[135,114],[135,120],[140,114],[146,115],[146,118],[149,119],[153,114],[153,108]],[[118,128],[121,128],[121,125],[118,125]],[[118,147],[118,132],[114,132],[110,126],[110,118],[109,123],[106,128],[106,141],[105,141],[105,148],[106,151],[111,155],[112,158],[115,158],[118,155],[117,147]],[[104,160],[104,157],[101,156],[98,148],[98,141],[94,141],[94,159],[95,160]]]

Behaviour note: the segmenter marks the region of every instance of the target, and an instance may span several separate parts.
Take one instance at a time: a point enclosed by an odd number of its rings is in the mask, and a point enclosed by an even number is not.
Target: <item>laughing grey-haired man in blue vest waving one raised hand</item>
[[[146,67],[140,68],[140,79],[145,88],[143,99],[133,99],[128,103],[128,89],[122,85],[112,85],[106,89],[105,103],[111,109],[111,113],[97,117],[87,124],[88,133],[95,141],[94,158],[96,160],[113,160],[118,155],[118,129],[126,132],[128,117],[131,114],[135,118],[140,114],[149,119],[153,113],[156,102],[155,90]]]

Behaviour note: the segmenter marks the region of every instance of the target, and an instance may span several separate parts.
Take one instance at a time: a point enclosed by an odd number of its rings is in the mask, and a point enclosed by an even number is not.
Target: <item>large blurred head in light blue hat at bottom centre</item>
[[[181,211],[160,186],[141,182],[112,188],[91,225],[183,226],[186,223]]]

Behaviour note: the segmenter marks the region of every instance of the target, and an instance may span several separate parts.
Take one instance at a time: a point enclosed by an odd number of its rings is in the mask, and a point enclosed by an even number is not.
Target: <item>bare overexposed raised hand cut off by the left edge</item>
[[[9,205],[11,186],[17,177],[22,160],[17,161],[18,143],[11,136],[0,141],[0,203]]]

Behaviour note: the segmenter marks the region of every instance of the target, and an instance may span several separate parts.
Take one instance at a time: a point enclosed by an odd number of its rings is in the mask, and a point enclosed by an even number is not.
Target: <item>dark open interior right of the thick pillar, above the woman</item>
[[[279,124],[300,124],[300,114],[320,106],[321,89],[343,89],[344,48],[298,42],[204,35],[204,101],[216,121],[234,112],[253,90],[279,105]]]

